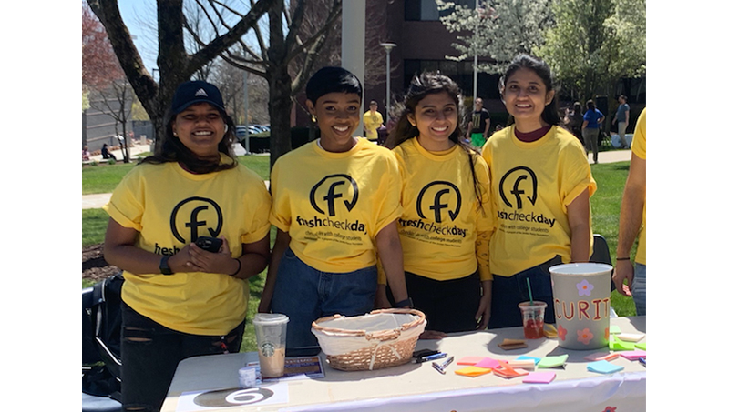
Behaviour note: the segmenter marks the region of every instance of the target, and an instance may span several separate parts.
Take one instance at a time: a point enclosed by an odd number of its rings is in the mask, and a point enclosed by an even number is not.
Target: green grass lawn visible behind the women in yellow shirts
[[[241,163],[252,168],[254,171],[259,173],[264,179],[268,179],[268,156],[241,156]],[[120,165],[120,164],[118,164]],[[98,166],[99,169],[105,167],[117,167],[114,166]],[[131,165],[120,165],[127,166]],[[618,163],[606,163],[593,165],[592,175],[598,184],[598,190],[595,192],[590,199],[592,207],[592,230],[594,233],[601,234],[608,241],[608,245],[611,250],[611,258],[613,265],[615,264],[615,248],[618,241],[618,219],[620,216],[622,189],[625,185],[625,178],[628,176],[628,168],[630,162],[618,162]],[[89,166],[87,168],[92,168]],[[126,169],[128,171],[128,168]],[[263,173],[265,172],[265,173]],[[116,172],[116,178],[121,179],[124,176],[122,169]],[[98,176],[95,172],[90,174],[84,174],[84,187],[86,186],[87,176]],[[105,175],[108,179],[106,185],[111,186],[110,189],[102,190],[98,193],[110,192],[114,186],[118,183],[111,182],[110,175]],[[82,244],[84,246],[94,245],[104,240],[104,232],[106,231],[108,216],[101,209],[87,209],[82,210]],[[274,239],[275,230],[272,228],[272,242]],[[633,247],[634,249],[634,247]],[[632,251],[634,255],[635,251]],[[246,319],[246,332],[243,336],[243,344],[241,351],[253,351],[255,350],[255,334],[253,332],[252,317],[258,310],[258,302],[261,298],[261,292],[265,282],[264,271],[258,276],[253,276],[250,279],[251,285],[251,298],[248,303],[248,316]],[[611,305],[615,309],[615,312],[621,317],[629,317],[635,315],[635,306],[632,303],[632,299],[629,297],[621,296],[617,292],[612,292]]]

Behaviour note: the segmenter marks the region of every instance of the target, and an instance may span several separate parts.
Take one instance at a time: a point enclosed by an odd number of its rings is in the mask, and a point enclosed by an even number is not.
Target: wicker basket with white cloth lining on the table
[[[360,317],[322,317],[312,333],[329,365],[339,370],[374,370],[406,364],[426,316],[416,309],[375,310]]]

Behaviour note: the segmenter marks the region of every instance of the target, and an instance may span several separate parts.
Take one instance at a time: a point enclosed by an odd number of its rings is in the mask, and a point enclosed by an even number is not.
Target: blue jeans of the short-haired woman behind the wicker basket
[[[271,310],[289,317],[286,347],[318,345],[312,322],[340,314],[354,317],[375,306],[377,266],[348,273],[322,272],[308,266],[286,249],[273,287]]]

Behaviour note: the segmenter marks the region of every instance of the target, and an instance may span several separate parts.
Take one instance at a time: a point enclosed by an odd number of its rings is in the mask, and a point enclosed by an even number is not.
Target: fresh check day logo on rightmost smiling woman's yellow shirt
[[[498,210],[498,218],[508,222],[536,223],[542,226],[511,225],[507,229],[544,233],[548,229],[543,226],[554,226],[556,221],[554,218],[543,214],[537,215],[534,212],[522,212],[522,209],[529,204],[536,206],[538,185],[537,175],[527,166],[514,167],[501,177],[498,182],[498,195],[511,210]]]

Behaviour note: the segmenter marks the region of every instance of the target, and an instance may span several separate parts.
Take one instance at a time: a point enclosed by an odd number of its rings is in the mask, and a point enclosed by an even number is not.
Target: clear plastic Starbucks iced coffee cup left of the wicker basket
[[[262,377],[282,377],[286,360],[286,325],[289,317],[259,313],[253,317]]]

